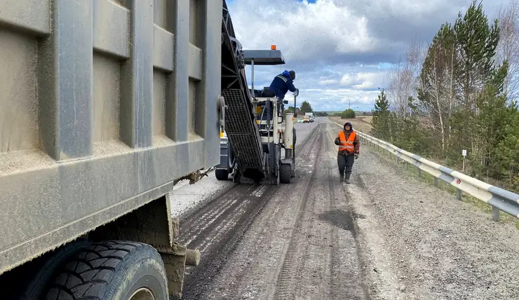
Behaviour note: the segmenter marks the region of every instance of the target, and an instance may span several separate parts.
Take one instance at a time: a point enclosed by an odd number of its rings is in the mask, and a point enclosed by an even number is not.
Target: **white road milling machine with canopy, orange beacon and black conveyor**
[[[219,180],[260,184],[290,184],[295,177],[294,114],[268,88],[254,89],[256,65],[285,64],[281,50],[243,50],[229,15],[222,22],[222,97],[220,98]],[[251,66],[252,88],[245,77]],[[294,93],[294,103],[297,92]]]

